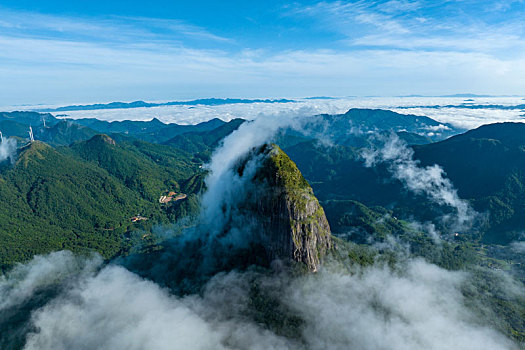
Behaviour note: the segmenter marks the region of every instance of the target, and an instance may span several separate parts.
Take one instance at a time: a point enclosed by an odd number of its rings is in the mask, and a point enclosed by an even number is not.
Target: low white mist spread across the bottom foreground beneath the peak
[[[52,253],[1,280],[2,313],[27,307],[42,281],[59,291],[32,310],[27,349],[517,348],[466,306],[468,274],[418,259],[295,277],[233,271],[180,297],[121,266]]]

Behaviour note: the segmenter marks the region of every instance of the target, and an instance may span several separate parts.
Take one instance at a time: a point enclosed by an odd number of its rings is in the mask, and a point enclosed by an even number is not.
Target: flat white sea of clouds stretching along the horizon
[[[472,101],[471,101],[472,100]],[[98,118],[101,120],[151,120],[166,123],[196,124],[213,118],[229,121],[234,118],[254,119],[261,115],[283,113],[315,115],[345,113],[350,108],[381,108],[402,114],[428,116],[458,128],[472,129],[483,124],[504,121],[524,122],[521,109],[461,108],[465,104],[480,106],[518,106],[521,97],[345,97],[335,99],[297,99],[288,103],[240,103],[219,106],[159,106],[151,108],[101,109],[66,111],[54,114],[69,118]],[[453,106],[453,107],[450,107]],[[2,110],[27,110],[58,106],[5,106]]]

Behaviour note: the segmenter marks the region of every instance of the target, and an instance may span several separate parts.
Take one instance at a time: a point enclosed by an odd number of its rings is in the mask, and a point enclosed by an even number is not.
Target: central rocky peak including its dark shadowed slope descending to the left
[[[180,294],[199,292],[219,272],[268,267],[275,259],[317,271],[332,236],[295,163],[279,147],[266,145],[230,170],[232,183],[223,184],[230,186],[227,200],[216,203],[220,209],[212,211],[210,222],[189,228],[161,249],[126,258],[126,267],[155,276]]]

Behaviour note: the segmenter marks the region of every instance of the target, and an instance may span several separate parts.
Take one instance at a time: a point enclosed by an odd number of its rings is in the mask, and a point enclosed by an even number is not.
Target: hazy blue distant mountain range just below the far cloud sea
[[[329,137],[338,144],[363,147],[367,144],[370,133],[395,131],[409,144],[424,144],[443,140],[464,130],[446,123],[439,123],[431,118],[404,115],[380,109],[350,109],[345,114],[318,115],[305,117],[309,136]],[[237,120],[235,123],[239,123]],[[196,125],[166,124],[154,118],[150,121],[103,121],[94,118],[62,119],[50,113],[38,112],[0,112],[0,131],[5,136],[28,137],[29,126],[33,128],[35,138],[54,146],[69,145],[83,141],[95,134],[108,134],[115,137],[132,137],[151,143],[174,143],[180,147],[182,141],[173,140],[179,135],[195,134],[215,130],[226,122],[218,118]],[[196,136],[191,136],[196,137]],[[294,141],[294,138],[298,138]],[[182,138],[181,138],[182,140]],[[289,130],[286,144],[303,141],[305,136]]]

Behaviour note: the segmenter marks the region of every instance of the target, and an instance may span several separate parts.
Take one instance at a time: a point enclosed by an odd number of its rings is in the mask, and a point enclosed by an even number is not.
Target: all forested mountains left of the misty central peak
[[[137,243],[128,241],[133,231],[146,231],[146,237],[157,224],[194,216],[204,189],[201,165],[242,122],[183,126],[1,113],[5,137],[19,136],[24,144],[31,125],[36,139],[46,143],[27,143],[15,164],[0,164],[0,268],[61,249],[111,257]],[[169,193],[187,197],[160,203]],[[147,220],[133,223],[136,215]]]

